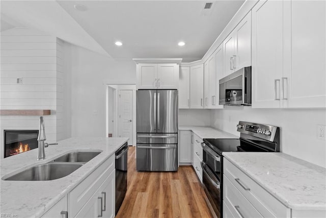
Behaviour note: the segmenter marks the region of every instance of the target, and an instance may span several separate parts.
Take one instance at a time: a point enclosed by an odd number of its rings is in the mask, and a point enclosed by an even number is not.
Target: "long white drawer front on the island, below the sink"
[[[115,155],[112,155],[102,163],[93,173],[84,181],[79,183],[68,195],[68,208],[71,216],[77,212],[89,201],[94,192],[100,187],[104,180],[112,173],[115,168]]]

